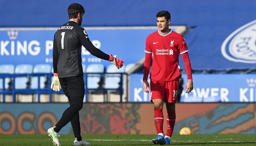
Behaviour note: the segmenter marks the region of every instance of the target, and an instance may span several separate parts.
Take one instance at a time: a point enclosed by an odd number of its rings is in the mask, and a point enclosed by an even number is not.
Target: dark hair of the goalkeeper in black
[[[84,7],[79,3],[72,3],[68,7],[69,19],[77,18],[78,13],[84,14]]]

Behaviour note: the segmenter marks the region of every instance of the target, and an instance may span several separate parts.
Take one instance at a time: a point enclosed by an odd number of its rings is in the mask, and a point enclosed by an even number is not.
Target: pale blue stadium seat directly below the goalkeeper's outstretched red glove
[[[108,89],[114,89],[119,88],[120,86],[120,74],[118,73],[124,73],[125,72],[125,66],[123,66],[120,69],[117,69],[114,65],[109,65],[107,67],[106,73],[117,73],[117,74],[106,74],[104,78],[104,88]],[[124,83],[124,82],[123,82]]]

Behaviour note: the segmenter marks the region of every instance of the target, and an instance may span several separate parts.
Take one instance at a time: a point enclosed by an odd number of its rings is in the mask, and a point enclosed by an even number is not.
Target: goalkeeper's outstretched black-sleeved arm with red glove
[[[96,48],[93,45],[93,43],[91,43],[91,41],[88,37],[88,34],[86,33],[86,31],[83,28],[78,27],[76,32],[77,32],[79,41],[84,46],[84,48],[86,48],[86,50],[90,52],[91,55],[96,56],[100,59],[111,61],[118,69],[122,68],[124,66],[123,65],[124,61],[116,58],[117,57],[116,55],[114,55],[114,56],[112,56],[111,54],[108,55],[108,54],[102,52],[100,49]]]

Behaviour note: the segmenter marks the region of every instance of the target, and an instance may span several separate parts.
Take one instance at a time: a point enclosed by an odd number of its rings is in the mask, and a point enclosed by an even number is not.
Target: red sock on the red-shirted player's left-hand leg
[[[154,122],[156,127],[156,132],[163,133],[163,109],[154,108]]]

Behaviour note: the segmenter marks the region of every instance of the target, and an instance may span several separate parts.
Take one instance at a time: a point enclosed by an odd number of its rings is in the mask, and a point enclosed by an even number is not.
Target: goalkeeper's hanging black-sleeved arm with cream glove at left
[[[56,40],[54,37],[54,41],[53,41],[53,81],[51,84],[51,88],[54,91],[60,91],[60,84],[59,84],[58,70],[57,70],[58,58],[59,58],[59,52],[58,52],[57,43],[56,43]]]

